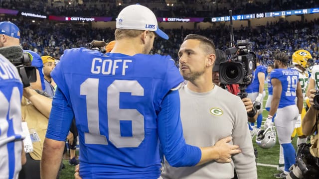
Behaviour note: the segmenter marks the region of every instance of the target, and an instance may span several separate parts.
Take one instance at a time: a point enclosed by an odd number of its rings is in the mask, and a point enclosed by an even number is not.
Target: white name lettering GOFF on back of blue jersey
[[[102,60],[100,58],[94,58],[91,65],[92,74],[103,74],[103,75],[116,75],[119,64],[122,65],[122,75],[126,74],[126,69],[130,66],[128,63],[132,63],[132,60]]]

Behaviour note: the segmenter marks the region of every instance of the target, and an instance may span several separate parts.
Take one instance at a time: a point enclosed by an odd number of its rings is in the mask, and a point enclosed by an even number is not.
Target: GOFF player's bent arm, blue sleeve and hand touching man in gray
[[[177,90],[169,91],[161,102],[158,114],[159,139],[163,154],[172,167],[191,167],[216,160],[231,162],[230,157],[240,152],[239,146],[229,145],[231,137],[218,141],[212,147],[187,145],[180,120],[180,101]]]

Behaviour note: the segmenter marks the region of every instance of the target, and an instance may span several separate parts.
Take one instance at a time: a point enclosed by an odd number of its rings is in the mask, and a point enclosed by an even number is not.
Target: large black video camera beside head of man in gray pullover
[[[237,48],[225,50],[227,55],[232,55],[230,62],[222,62],[219,65],[219,78],[222,84],[249,85],[253,80],[253,72],[256,68],[256,55],[252,42],[248,39],[238,40]]]

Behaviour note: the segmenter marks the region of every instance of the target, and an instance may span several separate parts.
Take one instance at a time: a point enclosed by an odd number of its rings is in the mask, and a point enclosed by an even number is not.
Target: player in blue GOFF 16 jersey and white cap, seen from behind
[[[231,137],[212,147],[187,145],[176,90],[182,76],[170,56],[149,54],[158,27],[155,14],[129,5],[116,21],[110,53],[65,50],[51,76],[57,84],[44,141],[41,177],[55,179],[73,117],[79,133],[80,177],[158,179],[161,147],[171,166],[231,162],[240,153]]]

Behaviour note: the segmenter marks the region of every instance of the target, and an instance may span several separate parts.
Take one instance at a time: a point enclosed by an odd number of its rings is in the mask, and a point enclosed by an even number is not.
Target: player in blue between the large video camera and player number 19
[[[259,64],[257,61],[257,68],[254,71],[254,80],[252,83],[247,87],[246,92],[248,93],[248,98],[250,98],[253,102],[258,101],[261,103],[261,108],[258,111],[257,116],[257,129],[260,128],[261,122],[263,121],[263,99],[265,96],[264,91],[264,83],[265,83],[265,74],[266,74],[266,67]],[[254,129],[255,123],[251,123],[250,130],[256,130]]]

